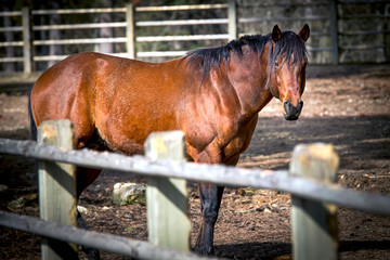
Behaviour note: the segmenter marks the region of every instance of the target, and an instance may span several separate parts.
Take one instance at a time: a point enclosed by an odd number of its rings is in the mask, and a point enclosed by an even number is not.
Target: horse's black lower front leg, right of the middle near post
[[[214,255],[213,230],[224,187],[211,183],[198,183],[198,187],[202,204],[202,222],[195,251],[209,256]]]

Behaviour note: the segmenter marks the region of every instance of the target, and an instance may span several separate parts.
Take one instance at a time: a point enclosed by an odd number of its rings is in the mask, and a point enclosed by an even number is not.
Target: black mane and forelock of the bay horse
[[[223,47],[200,48],[190,51],[186,53],[185,58],[190,60],[190,64],[199,62],[198,66],[203,74],[202,78],[205,79],[212,68],[216,66],[220,68],[222,62],[227,64],[231,57],[231,51],[243,55],[242,46],[248,46],[253,52],[260,55],[269,41],[272,41],[271,34],[266,36],[243,36]],[[271,48],[268,65],[272,66],[278,55],[284,55],[284,63],[287,62],[288,64],[296,64],[302,61],[302,58],[307,58],[303,40],[292,31],[284,31],[281,40],[276,42],[275,48]]]

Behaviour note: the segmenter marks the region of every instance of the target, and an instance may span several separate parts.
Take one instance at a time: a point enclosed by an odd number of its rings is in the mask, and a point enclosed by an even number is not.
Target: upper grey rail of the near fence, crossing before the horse
[[[54,146],[36,144],[32,141],[8,139],[0,139],[0,153],[148,177],[183,178],[229,186],[270,188],[372,213],[390,216],[390,198],[388,196],[361,193],[335,184],[315,182],[290,176],[288,171],[250,170],[171,160],[151,160],[144,156],[129,157],[90,150],[65,151]]]

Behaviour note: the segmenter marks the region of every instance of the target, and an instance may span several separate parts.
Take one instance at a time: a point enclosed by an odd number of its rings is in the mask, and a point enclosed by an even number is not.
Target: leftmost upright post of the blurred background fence
[[[25,74],[32,72],[31,13],[28,6],[22,9],[23,67]]]

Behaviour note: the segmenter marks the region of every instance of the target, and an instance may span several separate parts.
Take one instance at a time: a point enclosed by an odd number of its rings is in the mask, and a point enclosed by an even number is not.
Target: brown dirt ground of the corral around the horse
[[[338,183],[358,191],[390,195],[390,66],[315,67],[308,72],[304,107],[298,121],[285,121],[278,101],[262,112],[250,147],[238,166],[287,169],[294,146],[333,143],[340,157]],[[0,93],[0,138],[28,139],[27,95]],[[34,161],[0,155],[1,210],[38,216]],[[91,230],[147,239],[146,206],[114,206],[116,182],[142,177],[104,171],[79,205]],[[199,226],[199,195],[191,191],[191,245]],[[224,192],[217,222],[218,257],[290,259],[288,194],[248,187]],[[25,198],[23,204],[16,199]],[[390,259],[390,217],[339,208],[340,259]],[[102,259],[121,259],[101,252]],[[39,259],[40,237],[0,227],[0,259]],[[80,258],[84,256],[80,252]]]

